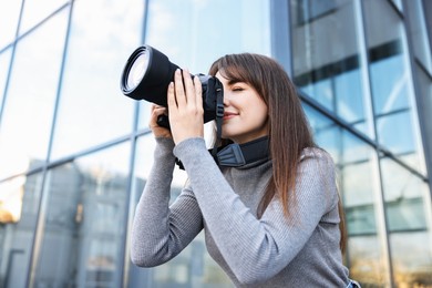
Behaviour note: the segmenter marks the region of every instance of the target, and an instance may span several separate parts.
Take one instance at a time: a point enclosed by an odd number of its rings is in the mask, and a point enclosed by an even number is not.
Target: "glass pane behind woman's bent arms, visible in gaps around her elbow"
[[[154,147],[153,135],[140,138],[135,158],[133,196],[135,205],[140,200],[153,164]],[[186,181],[186,173],[176,166],[172,183],[172,202],[178,196]],[[203,233],[167,264],[152,269],[134,270],[134,272],[141,274],[142,281],[150,284],[150,287],[233,287],[229,278],[207,254]]]

